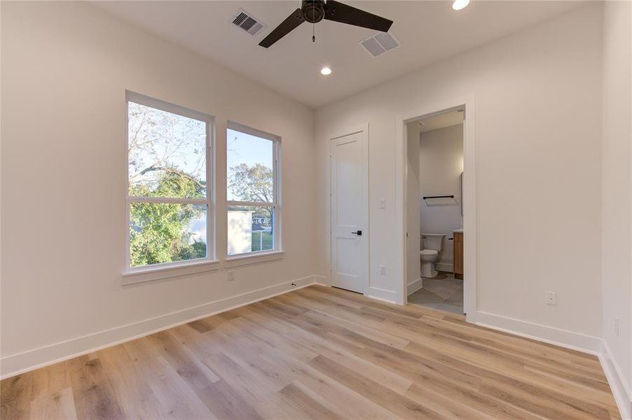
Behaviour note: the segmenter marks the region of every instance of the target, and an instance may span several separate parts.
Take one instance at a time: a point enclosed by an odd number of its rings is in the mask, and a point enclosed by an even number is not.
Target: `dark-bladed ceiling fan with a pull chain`
[[[289,34],[292,30],[296,29],[301,23],[308,22],[315,24],[323,19],[383,32],[387,32],[393,24],[392,20],[373,15],[373,13],[365,12],[359,8],[347,6],[339,1],[303,0],[301,2],[301,8],[294,10],[294,12],[270,32],[266,38],[263,38],[263,41],[261,41],[259,45],[268,48]],[[315,40],[315,36],[312,35],[312,41]]]

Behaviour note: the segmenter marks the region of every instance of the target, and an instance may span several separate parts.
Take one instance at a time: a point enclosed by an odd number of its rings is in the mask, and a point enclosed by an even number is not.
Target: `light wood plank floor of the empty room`
[[[321,286],[0,386],[3,420],[619,418],[594,356]]]

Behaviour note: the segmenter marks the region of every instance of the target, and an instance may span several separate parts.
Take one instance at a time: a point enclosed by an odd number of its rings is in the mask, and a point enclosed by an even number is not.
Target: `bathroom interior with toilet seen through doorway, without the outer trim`
[[[408,302],[460,315],[463,121],[458,109],[406,125]]]

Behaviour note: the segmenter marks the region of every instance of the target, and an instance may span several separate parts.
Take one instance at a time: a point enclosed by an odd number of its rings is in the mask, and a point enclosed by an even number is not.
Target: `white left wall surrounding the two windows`
[[[123,325],[159,328],[202,315],[208,302],[315,273],[315,244],[305,240],[316,230],[312,110],[87,3],[1,7],[3,374],[120,339]],[[238,269],[231,282],[219,271],[121,286],[126,89],[216,117],[220,256],[226,120],[282,137],[283,260]],[[158,321],[132,328],[148,319]]]

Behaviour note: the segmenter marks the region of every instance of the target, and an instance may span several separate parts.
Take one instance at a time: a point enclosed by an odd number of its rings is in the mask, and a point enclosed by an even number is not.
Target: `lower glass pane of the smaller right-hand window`
[[[228,206],[228,255],[273,249],[273,207]]]

